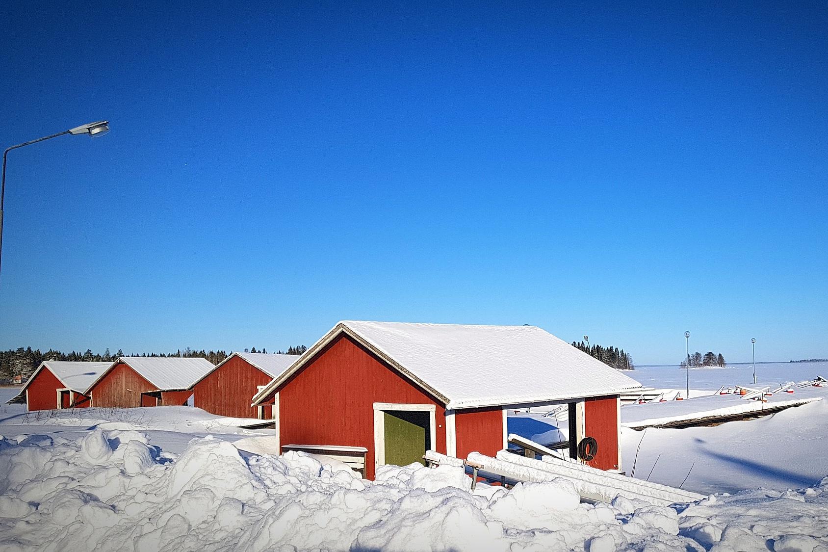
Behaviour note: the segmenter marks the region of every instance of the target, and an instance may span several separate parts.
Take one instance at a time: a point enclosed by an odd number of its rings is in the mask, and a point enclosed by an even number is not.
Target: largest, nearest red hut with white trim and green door
[[[508,410],[568,404],[570,454],[595,438],[588,463],[616,470],[619,395],[638,387],[539,327],[339,322],[253,404],[275,402],[282,450],[365,451],[368,478],[427,449],[493,455]]]

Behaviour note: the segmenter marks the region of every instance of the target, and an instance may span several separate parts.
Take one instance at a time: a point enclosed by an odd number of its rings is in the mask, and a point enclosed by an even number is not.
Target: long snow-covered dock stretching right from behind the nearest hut
[[[796,398],[782,393],[767,397],[765,401],[744,399],[740,395],[706,395],[694,399],[626,404],[621,408],[621,425],[630,429],[689,428],[756,418],[821,400],[824,391],[815,389],[797,390]]]

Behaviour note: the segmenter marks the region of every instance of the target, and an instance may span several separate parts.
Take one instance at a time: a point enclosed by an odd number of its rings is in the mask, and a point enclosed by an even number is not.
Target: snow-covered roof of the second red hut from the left
[[[112,370],[123,362],[135,370],[145,380],[155,385],[158,390],[185,390],[196,380],[213,370],[213,363],[205,358],[181,356],[122,356],[109,366]],[[105,373],[105,372],[104,372]],[[87,391],[101,380],[103,374],[94,380]]]

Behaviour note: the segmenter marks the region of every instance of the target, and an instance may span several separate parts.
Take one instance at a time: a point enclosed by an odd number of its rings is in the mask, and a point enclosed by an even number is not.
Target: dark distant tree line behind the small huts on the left
[[[279,351],[277,354],[301,355],[306,350],[306,346],[297,345],[288,347],[287,353]],[[259,351],[256,347],[251,347],[249,350],[245,349],[244,351],[267,353],[265,349]],[[186,358],[205,358],[213,364],[219,364],[219,362],[224,361],[229,354],[224,350],[213,351],[211,349],[209,351],[205,351],[204,349],[201,349],[200,351],[196,351],[195,349],[190,349],[190,347],[187,347],[183,351],[179,349],[178,351],[171,353],[132,353],[130,355],[124,354],[124,352],[120,349],[118,349],[117,352],[112,353],[108,348],[106,351],[103,351],[103,353],[93,353],[90,349],[87,349],[86,352],[71,351],[69,353],[65,353],[63,351],[55,351],[55,349],[41,352],[40,349],[32,349],[31,347],[18,347],[17,349],[0,351],[0,380],[11,380],[15,375],[23,375],[24,377],[28,377],[37,369],[37,366],[41,365],[41,362],[43,361],[114,362],[119,356],[180,356]]]

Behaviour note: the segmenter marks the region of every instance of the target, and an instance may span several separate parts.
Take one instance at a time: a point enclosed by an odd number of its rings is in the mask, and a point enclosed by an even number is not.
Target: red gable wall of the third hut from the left
[[[258,385],[267,385],[272,379],[243,358],[233,356],[193,387],[193,406],[219,416],[258,418],[258,409],[250,403]],[[269,418],[270,408],[265,410]]]

